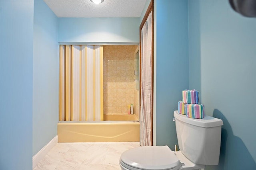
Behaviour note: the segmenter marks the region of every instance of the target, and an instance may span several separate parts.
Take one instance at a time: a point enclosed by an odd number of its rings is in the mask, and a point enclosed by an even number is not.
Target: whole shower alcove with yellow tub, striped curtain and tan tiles
[[[139,141],[138,45],[96,46],[60,45],[58,142]],[[97,52],[98,46],[102,48],[102,51]],[[89,51],[89,48],[92,48],[92,52]],[[101,73],[98,73],[100,75],[98,82],[101,85],[95,84],[95,82],[97,83],[97,70],[92,71],[93,76],[90,79],[90,75],[86,73],[86,69],[90,66],[83,64],[87,61],[90,62],[88,58],[90,54],[96,58],[98,53],[101,56],[99,65],[102,65],[102,68],[99,68]],[[92,59],[93,67],[96,66],[97,60]],[[81,76],[84,76],[85,80]],[[80,78],[80,80],[75,80],[75,78]],[[91,91],[85,90],[86,86],[90,86],[87,85],[90,80],[94,82],[92,86],[96,86],[96,89],[92,87]],[[97,99],[90,98],[90,96],[96,96],[97,86],[100,86],[98,90],[100,104],[98,105],[95,104]],[[75,93],[80,97],[76,98]],[[85,96],[86,93],[89,95],[88,98]],[[90,102],[90,99],[94,101],[92,105],[98,108],[86,109],[85,103]],[[134,114],[128,114],[128,105],[130,104],[134,106]],[[77,108],[75,108],[76,106]],[[100,112],[99,119],[96,118],[95,113],[90,119],[89,111],[95,112],[97,109]],[[76,112],[77,115],[75,115]]]

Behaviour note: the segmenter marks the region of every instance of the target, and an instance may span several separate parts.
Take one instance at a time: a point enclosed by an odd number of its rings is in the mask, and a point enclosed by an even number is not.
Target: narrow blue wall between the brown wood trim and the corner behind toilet
[[[177,144],[174,110],[188,88],[188,2],[154,1],[156,8],[156,145]]]

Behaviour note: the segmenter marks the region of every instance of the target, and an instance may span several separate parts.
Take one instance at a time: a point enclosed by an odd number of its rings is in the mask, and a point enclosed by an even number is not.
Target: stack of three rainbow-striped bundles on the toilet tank
[[[194,119],[204,118],[204,105],[198,104],[197,90],[183,90],[182,101],[178,102],[178,112]]]

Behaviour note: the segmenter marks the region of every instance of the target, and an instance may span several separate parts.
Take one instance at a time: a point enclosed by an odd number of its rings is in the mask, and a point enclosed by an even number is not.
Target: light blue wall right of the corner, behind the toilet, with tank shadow
[[[189,1],[189,88],[223,120],[215,170],[256,169],[256,18],[228,1]]]

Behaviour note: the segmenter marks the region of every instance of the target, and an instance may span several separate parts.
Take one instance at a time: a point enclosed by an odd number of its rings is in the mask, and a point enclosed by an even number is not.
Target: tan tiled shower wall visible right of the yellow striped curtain
[[[128,113],[128,105],[134,105],[134,53],[137,47],[103,45],[104,114],[125,114]]]

